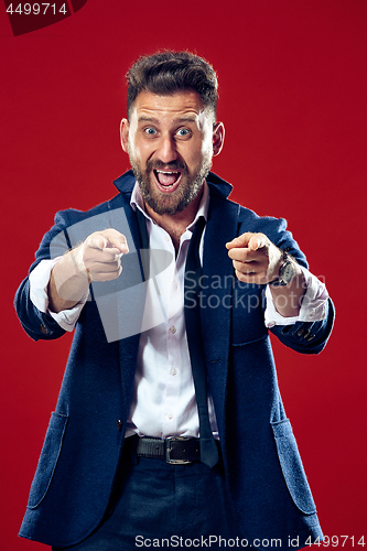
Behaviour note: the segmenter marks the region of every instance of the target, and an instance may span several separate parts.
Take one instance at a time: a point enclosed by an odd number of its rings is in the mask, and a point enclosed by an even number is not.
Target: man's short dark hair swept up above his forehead
[[[199,94],[205,107],[217,111],[217,76],[203,57],[190,52],[156,52],[144,55],[128,71],[128,117],[137,96],[143,91],[169,95],[192,89]]]

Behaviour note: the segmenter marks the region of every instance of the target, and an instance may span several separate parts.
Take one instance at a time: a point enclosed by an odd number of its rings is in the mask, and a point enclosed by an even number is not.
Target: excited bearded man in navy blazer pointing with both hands
[[[284,220],[209,172],[216,99],[201,57],[140,58],[121,122],[132,172],[111,201],[56,215],[18,291],[35,341],[75,327],[20,532],[53,549],[322,538],[268,329],[319,353],[333,306]]]

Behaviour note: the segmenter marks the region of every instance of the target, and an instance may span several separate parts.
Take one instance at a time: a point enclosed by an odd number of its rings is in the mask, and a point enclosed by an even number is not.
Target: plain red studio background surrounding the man
[[[88,0],[17,37],[0,13],[0,548],[45,549],[17,532],[71,344],[69,335],[33,343],[13,294],[56,210],[115,194],[111,181],[129,168],[118,131],[123,75],[140,54],[170,47],[218,72],[227,136],[214,170],[234,183],[233,198],[285,217],[334,298],[336,326],[321,356],[274,348],[324,532],[363,549],[367,2]]]

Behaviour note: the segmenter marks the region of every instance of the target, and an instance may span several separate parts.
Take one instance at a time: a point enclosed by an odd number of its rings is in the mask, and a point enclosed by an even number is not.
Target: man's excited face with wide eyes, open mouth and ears
[[[224,129],[196,91],[138,95],[121,122],[122,149],[145,203],[159,215],[184,210],[202,191]]]

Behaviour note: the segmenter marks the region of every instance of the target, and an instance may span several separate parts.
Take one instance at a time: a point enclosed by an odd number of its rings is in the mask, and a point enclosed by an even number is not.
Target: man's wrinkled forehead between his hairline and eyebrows
[[[132,117],[141,118],[154,117],[158,119],[169,117],[194,117],[204,115],[204,104],[194,90],[180,90],[170,95],[158,95],[152,91],[141,91],[134,102],[131,111]]]

